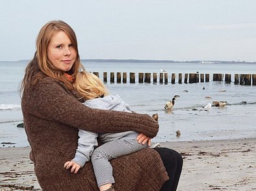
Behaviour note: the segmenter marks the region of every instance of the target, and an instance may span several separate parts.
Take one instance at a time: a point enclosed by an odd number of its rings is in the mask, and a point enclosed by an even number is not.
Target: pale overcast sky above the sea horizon
[[[31,59],[60,19],[82,59],[256,62],[255,13],[255,0],[0,0],[0,60]]]

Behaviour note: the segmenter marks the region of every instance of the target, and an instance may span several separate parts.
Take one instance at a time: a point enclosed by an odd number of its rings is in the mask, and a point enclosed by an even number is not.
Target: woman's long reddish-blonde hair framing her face
[[[85,70],[80,62],[80,56],[77,47],[77,37],[75,36],[73,29],[64,21],[50,21],[46,23],[38,33],[36,38],[36,52],[34,54],[34,58],[26,67],[25,76],[21,82],[21,92],[24,90],[25,86],[36,84],[36,82],[44,78],[45,75],[63,82],[66,87],[68,87],[68,89],[73,89],[72,84],[64,76],[64,71],[60,71],[54,67],[47,56],[51,38],[53,38],[53,36],[59,31],[63,31],[68,35],[75,51],[77,52],[77,58],[75,59],[75,62],[70,71],[67,73],[75,76],[77,73],[79,73],[79,71]],[[42,71],[45,75],[38,73],[40,71]]]

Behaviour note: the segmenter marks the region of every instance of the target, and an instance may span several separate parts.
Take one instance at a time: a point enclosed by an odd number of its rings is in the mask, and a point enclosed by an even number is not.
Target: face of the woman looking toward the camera
[[[77,52],[68,35],[60,30],[53,35],[48,47],[49,61],[60,71],[70,71]]]

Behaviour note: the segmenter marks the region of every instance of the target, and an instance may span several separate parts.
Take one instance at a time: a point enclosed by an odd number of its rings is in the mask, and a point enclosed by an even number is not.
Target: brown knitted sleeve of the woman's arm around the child
[[[86,107],[61,82],[51,78],[38,82],[29,94],[29,111],[26,112],[73,128],[94,133],[132,130],[149,137],[155,137],[159,129],[159,124],[149,115]]]

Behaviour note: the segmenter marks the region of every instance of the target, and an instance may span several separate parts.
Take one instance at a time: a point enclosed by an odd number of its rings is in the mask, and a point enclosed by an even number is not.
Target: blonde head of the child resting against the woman
[[[94,74],[88,72],[77,73],[73,87],[84,96],[86,100],[108,95],[107,88]]]

